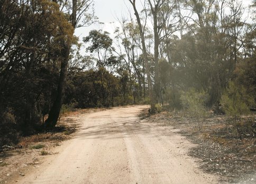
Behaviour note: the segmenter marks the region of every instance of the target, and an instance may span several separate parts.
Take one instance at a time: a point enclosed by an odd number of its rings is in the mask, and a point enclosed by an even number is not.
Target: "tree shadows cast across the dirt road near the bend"
[[[105,124],[80,128],[76,137],[79,139],[116,139],[132,137],[134,134],[147,134],[157,137],[159,131],[152,124],[142,122],[140,119],[127,121],[109,122]]]

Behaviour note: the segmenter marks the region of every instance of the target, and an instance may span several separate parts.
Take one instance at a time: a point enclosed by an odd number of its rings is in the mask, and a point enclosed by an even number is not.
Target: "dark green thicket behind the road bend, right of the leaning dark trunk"
[[[69,72],[63,108],[94,108],[134,104],[141,101],[139,84],[129,78],[98,70]]]

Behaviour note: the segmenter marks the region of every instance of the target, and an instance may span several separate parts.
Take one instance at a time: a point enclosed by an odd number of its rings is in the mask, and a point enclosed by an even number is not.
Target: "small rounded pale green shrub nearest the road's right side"
[[[208,95],[205,91],[197,92],[194,88],[189,89],[180,96],[180,100],[184,109],[191,116],[197,118],[205,118],[208,115],[205,107]]]

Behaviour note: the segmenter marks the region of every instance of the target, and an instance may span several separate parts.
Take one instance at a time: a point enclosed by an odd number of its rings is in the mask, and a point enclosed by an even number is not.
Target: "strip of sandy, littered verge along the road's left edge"
[[[15,182],[13,178],[23,177],[28,171],[40,167],[44,156],[58,154],[55,149],[63,141],[72,138],[72,133],[79,127],[77,116],[91,111],[94,110],[70,111],[62,114],[54,130],[21,137],[17,144],[1,147],[0,183],[13,183]]]

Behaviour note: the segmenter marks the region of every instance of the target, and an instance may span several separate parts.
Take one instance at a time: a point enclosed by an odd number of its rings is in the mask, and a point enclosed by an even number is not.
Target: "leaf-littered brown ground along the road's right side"
[[[201,169],[220,176],[221,183],[256,183],[256,137],[237,137],[225,115],[199,120],[184,112],[151,115],[160,126],[171,126],[197,146],[189,155],[198,158]]]

